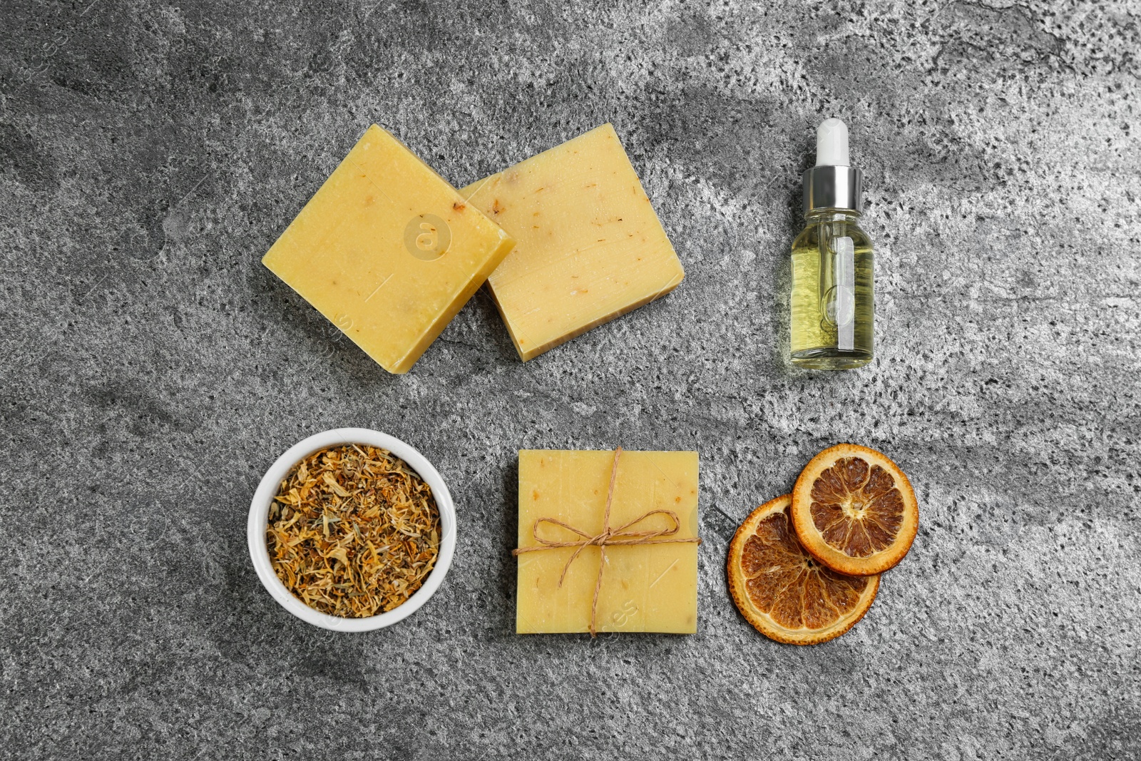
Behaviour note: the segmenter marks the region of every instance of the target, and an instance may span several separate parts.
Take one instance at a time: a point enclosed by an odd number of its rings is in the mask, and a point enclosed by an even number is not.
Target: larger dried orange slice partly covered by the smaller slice
[[[778,642],[816,645],[840,637],[864,617],[879,576],[828,570],[796,541],[792,497],[753,510],[729,544],[729,592],[741,615]]]

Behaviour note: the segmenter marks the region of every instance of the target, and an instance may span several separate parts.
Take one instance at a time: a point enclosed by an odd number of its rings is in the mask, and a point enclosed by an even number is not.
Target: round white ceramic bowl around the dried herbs
[[[424,580],[423,584],[412,593],[403,605],[393,608],[388,613],[381,613],[367,618],[342,618],[331,616],[319,610],[314,610],[290,592],[285,584],[274,573],[269,561],[269,550],[266,547],[266,525],[269,520],[269,505],[277,495],[282,480],[289,473],[290,468],[304,460],[307,455],[331,446],[341,444],[367,444],[388,450],[404,462],[408,463],[413,470],[420,473],[424,483],[431,487],[432,496],[436,497],[436,507],[439,508],[439,554],[436,558],[436,566]],[[258,489],[253,493],[253,501],[250,503],[250,520],[246,524],[246,534],[250,543],[250,558],[253,560],[253,568],[258,572],[258,578],[283,608],[292,613],[298,618],[307,621],[315,626],[331,629],[342,632],[365,632],[374,629],[391,626],[398,621],[407,618],[415,613],[420,606],[428,601],[428,598],[439,589],[447,575],[447,568],[452,565],[452,556],[455,553],[455,505],[452,504],[452,495],[444,485],[431,463],[398,438],[381,434],[369,428],[334,428],[333,430],[315,434],[291,446],[285,454],[277,458],[269,470],[261,477]]]

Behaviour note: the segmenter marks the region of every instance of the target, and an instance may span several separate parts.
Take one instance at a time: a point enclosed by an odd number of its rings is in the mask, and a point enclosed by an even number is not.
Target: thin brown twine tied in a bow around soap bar
[[[598,577],[594,580],[594,598],[590,604],[590,635],[597,637],[598,629],[596,628],[598,618],[598,591],[602,589],[602,570],[606,568],[606,548],[615,545],[638,545],[638,544],[674,544],[674,543],[693,543],[701,544],[702,540],[697,536],[690,537],[679,537],[672,539],[681,529],[681,520],[678,519],[678,513],[672,510],[647,510],[642,515],[638,516],[631,521],[628,521],[617,528],[610,528],[610,503],[614,501],[614,481],[618,477],[618,458],[622,455],[622,447],[620,446],[614,451],[614,464],[610,467],[610,487],[606,492],[606,511],[602,513],[602,531],[601,533],[591,536],[584,531],[580,531],[569,524],[565,524],[556,518],[536,518],[534,526],[531,528],[531,535],[539,542],[540,547],[523,547],[517,550],[511,550],[511,554],[520,556],[524,552],[541,552],[542,550],[556,550],[564,547],[575,547],[578,548],[574,553],[567,559],[566,565],[563,566],[563,574],[559,575],[559,586],[563,586],[563,580],[567,576],[567,570],[570,569],[570,564],[575,561],[583,550],[588,547],[594,545],[599,550],[598,558]],[[634,526],[646,520],[652,516],[666,516],[673,523],[672,528],[661,528],[657,531],[631,531]],[[582,536],[581,540],[574,542],[556,542],[549,539],[543,539],[539,535],[539,527],[542,524],[553,524],[556,526],[561,526],[563,528]]]

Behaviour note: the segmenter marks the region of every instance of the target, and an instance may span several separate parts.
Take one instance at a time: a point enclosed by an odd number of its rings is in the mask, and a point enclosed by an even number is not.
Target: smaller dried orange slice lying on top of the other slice
[[[899,465],[866,446],[837,444],[812,458],[796,479],[792,525],[828,568],[869,576],[904,559],[920,510]]]

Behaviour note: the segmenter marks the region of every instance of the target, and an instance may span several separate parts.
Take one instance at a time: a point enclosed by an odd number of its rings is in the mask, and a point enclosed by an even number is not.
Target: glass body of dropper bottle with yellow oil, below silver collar
[[[792,362],[850,370],[872,361],[872,241],[849,209],[818,209],[792,244]]]

